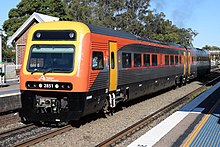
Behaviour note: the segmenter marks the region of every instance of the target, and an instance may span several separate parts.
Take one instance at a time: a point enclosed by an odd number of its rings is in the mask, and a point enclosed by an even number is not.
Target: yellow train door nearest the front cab
[[[118,79],[117,43],[109,42],[109,92],[116,91]]]

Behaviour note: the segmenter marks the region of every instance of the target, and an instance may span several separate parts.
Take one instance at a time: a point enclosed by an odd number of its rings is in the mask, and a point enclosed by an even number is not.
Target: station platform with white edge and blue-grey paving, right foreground
[[[220,82],[128,147],[219,147]]]

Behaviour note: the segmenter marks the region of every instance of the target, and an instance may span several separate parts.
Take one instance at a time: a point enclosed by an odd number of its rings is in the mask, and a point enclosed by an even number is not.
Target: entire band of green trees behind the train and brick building
[[[150,10],[150,0],[21,0],[9,12],[3,28],[10,36],[33,12],[61,20],[73,20],[116,30],[136,36],[192,46],[198,34],[191,28],[178,28],[165,19],[164,13]]]

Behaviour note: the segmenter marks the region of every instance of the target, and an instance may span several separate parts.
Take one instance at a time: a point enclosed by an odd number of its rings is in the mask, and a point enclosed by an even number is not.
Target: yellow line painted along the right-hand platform
[[[212,109],[206,114],[202,121],[198,124],[197,128],[191,133],[189,138],[184,142],[183,147],[188,147],[192,143],[192,141],[195,139],[196,135],[199,133],[199,131],[202,129],[208,118],[210,117],[211,113],[216,109],[218,104],[220,103],[220,99],[217,101],[217,103],[212,107]]]

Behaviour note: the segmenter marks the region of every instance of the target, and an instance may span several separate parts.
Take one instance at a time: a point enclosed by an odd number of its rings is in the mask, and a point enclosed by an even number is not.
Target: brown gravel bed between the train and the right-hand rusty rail
[[[145,96],[147,97],[146,100],[134,102],[136,104],[127,106],[127,108],[114,113],[113,116],[91,120],[81,125],[79,128],[73,128],[73,130],[69,132],[55,136],[34,146],[93,147],[200,86],[200,82],[194,81],[187,84],[187,86],[167,91],[155,97],[149,98],[149,96]],[[156,122],[151,124],[147,129],[149,130],[156,124]],[[143,133],[144,131],[140,131],[140,135]],[[121,146],[130,144],[137,137],[139,137],[139,135],[129,138]]]

